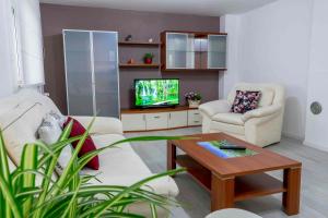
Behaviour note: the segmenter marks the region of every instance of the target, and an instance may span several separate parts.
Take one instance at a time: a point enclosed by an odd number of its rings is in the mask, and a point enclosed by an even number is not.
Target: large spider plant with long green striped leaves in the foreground
[[[152,217],[157,217],[156,208],[167,208],[168,205],[176,205],[174,199],[145,191],[142,185],[164,175],[173,175],[184,169],[160,173],[131,186],[92,185],[89,181],[95,179],[96,175],[80,174],[80,170],[86,162],[105,149],[125,142],[155,141],[164,140],[164,137],[151,136],[122,140],[78,157],[78,153],[89,135],[91,124],[83,135],[69,138],[71,128],[72,122],[65,128],[58,142],[52,145],[44,145],[43,143],[25,144],[21,164],[16,166],[14,171],[9,170],[9,155],[0,131],[0,217],[137,218],[142,216],[131,214],[127,210],[127,207],[140,202],[149,204]],[[79,141],[79,144],[72,152],[72,158],[68,166],[63,169],[61,175],[52,177],[56,174],[55,168],[61,150],[75,141]]]

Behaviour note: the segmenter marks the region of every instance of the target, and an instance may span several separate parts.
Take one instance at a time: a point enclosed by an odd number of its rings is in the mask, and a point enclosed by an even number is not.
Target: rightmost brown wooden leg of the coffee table
[[[282,204],[289,216],[300,213],[301,167],[283,171],[283,185],[286,192],[282,195]]]

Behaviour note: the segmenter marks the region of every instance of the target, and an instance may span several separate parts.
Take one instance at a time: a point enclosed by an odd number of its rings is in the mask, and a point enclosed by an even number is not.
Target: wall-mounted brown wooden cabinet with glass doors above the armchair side
[[[225,33],[176,32],[161,34],[162,71],[226,70]]]

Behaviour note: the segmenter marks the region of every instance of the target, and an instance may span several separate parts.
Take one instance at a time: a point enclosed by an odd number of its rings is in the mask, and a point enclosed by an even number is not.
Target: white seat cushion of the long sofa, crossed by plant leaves
[[[114,142],[125,140],[122,135],[106,134],[93,135],[98,148],[110,145]],[[97,174],[97,180],[93,184],[132,185],[133,183],[153,175],[142,159],[137,155],[130,144],[125,143],[108,148],[99,154],[101,167],[98,171],[84,169],[82,173]],[[99,173],[99,174],[98,174]],[[149,182],[143,186],[156,194],[176,196],[178,187],[171,177],[164,177]]]

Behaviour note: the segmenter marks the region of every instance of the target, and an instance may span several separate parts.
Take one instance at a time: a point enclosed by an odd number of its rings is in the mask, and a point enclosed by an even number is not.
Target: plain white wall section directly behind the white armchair
[[[235,82],[279,83],[286,87],[286,108],[283,125],[285,135],[304,138],[307,101],[307,72],[312,0],[280,0],[238,15],[234,43],[229,57],[237,60],[232,72]],[[233,27],[234,28],[234,27]],[[235,56],[237,52],[238,58]],[[227,72],[230,73],[230,72]],[[222,83],[222,82],[220,82]],[[231,88],[232,81],[225,83]]]

